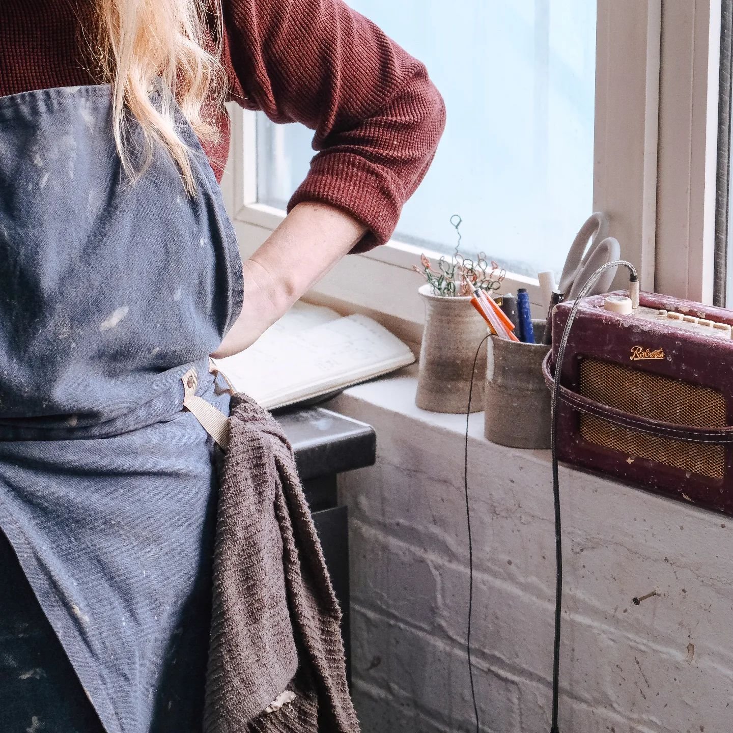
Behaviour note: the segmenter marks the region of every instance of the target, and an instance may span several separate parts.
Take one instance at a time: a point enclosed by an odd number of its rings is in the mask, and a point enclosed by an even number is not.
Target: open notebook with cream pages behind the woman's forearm
[[[273,410],[405,367],[415,357],[367,316],[342,317],[298,302],[247,350],[213,361],[237,391]]]

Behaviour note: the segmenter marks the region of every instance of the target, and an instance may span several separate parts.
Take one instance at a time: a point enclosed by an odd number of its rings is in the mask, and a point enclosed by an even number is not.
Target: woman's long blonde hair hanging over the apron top
[[[139,180],[161,144],[193,195],[190,150],[177,130],[175,105],[199,139],[218,139],[214,117],[224,95],[219,0],[96,0],[96,11],[92,48],[112,87],[114,139],[125,171]],[[153,88],[161,92],[157,105],[150,98]],[[143,132],[138,166],[130,158],[128,112]]]

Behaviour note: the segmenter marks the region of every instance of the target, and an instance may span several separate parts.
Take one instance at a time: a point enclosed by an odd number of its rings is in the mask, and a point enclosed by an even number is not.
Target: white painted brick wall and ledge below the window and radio
[[[350,508],[354,696],[364,733],[474,731],[460,416],[413,405],[410,375],[332,407],[374,425]],[[547,452],[471,417],[472,655],[482,731],[550,728],[553,502]],[[733,520],[561,471],[563,733],[733,732]],[[633,605],[656,589],[660,597]]]

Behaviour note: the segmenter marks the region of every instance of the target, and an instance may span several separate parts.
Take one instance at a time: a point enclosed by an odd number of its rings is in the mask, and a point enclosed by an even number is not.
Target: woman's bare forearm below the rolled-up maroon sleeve
[[[243,263],[242,312],[211,356],[232,356],[254,344],[366,232],[364,224],[336,207],[295,206]]]

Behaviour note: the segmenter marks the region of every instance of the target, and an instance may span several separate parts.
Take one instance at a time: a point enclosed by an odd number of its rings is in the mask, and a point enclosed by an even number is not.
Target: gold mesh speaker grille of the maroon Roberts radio
[[[606,361],[581,361],[581,394],[655,420],[694,427],[726,424],[726,402],[720,392]],[[721,445],[649,435],[582,413],[581,435],[589,443],[623,454],[629,462],[642,457],[710,479],[723,479],[726,457]]]

